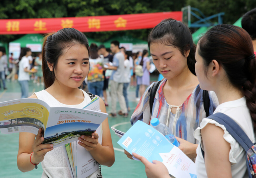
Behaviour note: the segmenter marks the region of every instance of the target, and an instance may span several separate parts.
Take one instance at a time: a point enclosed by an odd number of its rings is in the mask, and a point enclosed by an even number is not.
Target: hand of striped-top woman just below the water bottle
[[[180,148],[182,152],[184,152],[190,159],[196,158],[196,148],[198,147],[198,144],[190,143],[179,137],[176,137],[176,139],[180,143],[178,148]]]

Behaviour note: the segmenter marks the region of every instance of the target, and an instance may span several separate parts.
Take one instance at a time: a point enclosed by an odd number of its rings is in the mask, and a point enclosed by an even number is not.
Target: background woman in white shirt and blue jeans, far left
[[[18,81],[21,88],[21,98],[28,97],[28,81],[30,80],[29,73],[36,72],[30,70],[28,56],[30,56],[31,53],[31,49],[28,47],[24,47],[20,52]]]

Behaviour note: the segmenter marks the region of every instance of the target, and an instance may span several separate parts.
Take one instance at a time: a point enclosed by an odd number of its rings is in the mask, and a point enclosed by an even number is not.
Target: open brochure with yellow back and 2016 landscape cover
[[[38,129],[42,128],[43,144],[57,147],[78,140],[80,135],[92,135],[108,117],[99,109],[99,97],[84,109],[50,107],[33,98],[6,101],[0,103],[0,131],[4,134],[29,132],[37,135]]]

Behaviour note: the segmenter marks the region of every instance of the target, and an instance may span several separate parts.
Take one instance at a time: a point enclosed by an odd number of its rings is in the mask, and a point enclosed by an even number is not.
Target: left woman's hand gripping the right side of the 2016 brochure
[[[98,144],[98,138],[99,135],[97,133],[92,133],[92,136],[81,135],[81,137],[78,138],[80,141],[78,144],[83,146],[87,151],[92,151]]]

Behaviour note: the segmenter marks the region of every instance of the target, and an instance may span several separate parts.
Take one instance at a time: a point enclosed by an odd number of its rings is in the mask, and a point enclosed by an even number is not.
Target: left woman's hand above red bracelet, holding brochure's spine
[[[44,137],[42,137],[42,129],[40,128],[36,139],[32,145],[33,155],[31,156],[31,162],[34,164],[38,164],[44,160],[44,155],[53,150],[53,144],[42,144],[44,141]]]

